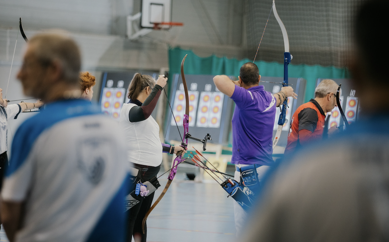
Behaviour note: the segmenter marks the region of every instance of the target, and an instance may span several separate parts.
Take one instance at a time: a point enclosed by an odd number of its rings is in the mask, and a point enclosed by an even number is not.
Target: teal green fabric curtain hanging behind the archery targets
[[[184,73],[197,75],[233,75],[238,77],[240,67],[249,62],[249,59],[228,59],[227,57],[209,57],[196,56],[192,50],[184,50],[179,47],[169,49],[169,68],[170,73],[180,73],[181,61],[185,55]],[[283,57],[280,53],[280,59]],[[292,60],[293,61],[293,60]],[[259,74],[263,77],[284,77],[284,64],[277,62],[256,61],[259,68]],[[305,100],[308,102],[314,96],[315,83],[317,78],[350,78],[350,72],[347,68],[335,68],[334,66],[308,66],[305,64],[289,64],[289,77],[302,77],[307,80],[307,89],[305,91]],[[171,81],[171,80],[170,80]]]

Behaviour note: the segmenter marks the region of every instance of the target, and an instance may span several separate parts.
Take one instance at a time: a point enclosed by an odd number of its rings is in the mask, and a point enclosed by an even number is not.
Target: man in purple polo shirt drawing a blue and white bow
[[[235,164],[236,181],[249,169],[255,172],[256,186],[259,186],[265,172],[273,165],[272,138],[276,107],[287,97],[297,99],[292,87],[282,87],[272,94],[259,85],[261,76],[258,66],[247,62],[240,67],[239,80],[233,81],[226,75],[214,77],[214,83],[221,92],[236,104],[232,117],[232,158]],[[247,212],[234,200],[234,218],[237,237],[247,222]]]

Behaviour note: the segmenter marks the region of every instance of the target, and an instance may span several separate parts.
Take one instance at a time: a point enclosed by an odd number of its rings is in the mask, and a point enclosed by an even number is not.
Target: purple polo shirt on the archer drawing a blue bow
[[[235,85],[231,96],[232,164],[272,165],[272,138],[276,99],[263,85],[245,89]]]

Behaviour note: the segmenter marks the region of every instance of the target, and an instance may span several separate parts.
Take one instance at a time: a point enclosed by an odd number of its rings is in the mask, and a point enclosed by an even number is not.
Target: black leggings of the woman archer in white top
[[[134,164],[134,167],[139,169],[140,172],[140,181],[144,183],[145,181],[148,181],[152,177],[156,176],[159,172],[159,169],[161,169],[161,165],[158,165],[157,167],[149,166],[149,165],[138,165]],[[132,184],[134,186],[133,190],[135,190],[135,183]],[[141,202],[139,202],[137,205],[133,206],[129,212],[130,215],[128,216],[128,222],[127,222],[127,241],[131,242],[132,237],[142,238],[141,242],[146,242],[146,236],[147,236],[147,223],[145,223],[145,234],[142,232],[142,221],[145,217],[147,211],[149,211],[151,205],[152,205],[152,199],[154,198],[154,192],[145,197]]]

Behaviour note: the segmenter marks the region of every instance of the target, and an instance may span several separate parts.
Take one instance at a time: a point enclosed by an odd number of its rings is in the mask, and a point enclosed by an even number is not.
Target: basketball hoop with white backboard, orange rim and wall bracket
[[[127,37],[135,40],[153,30],[170,30],[183,25],[172,22],[172,0],[142,0],[141,12],[127,16]]]

